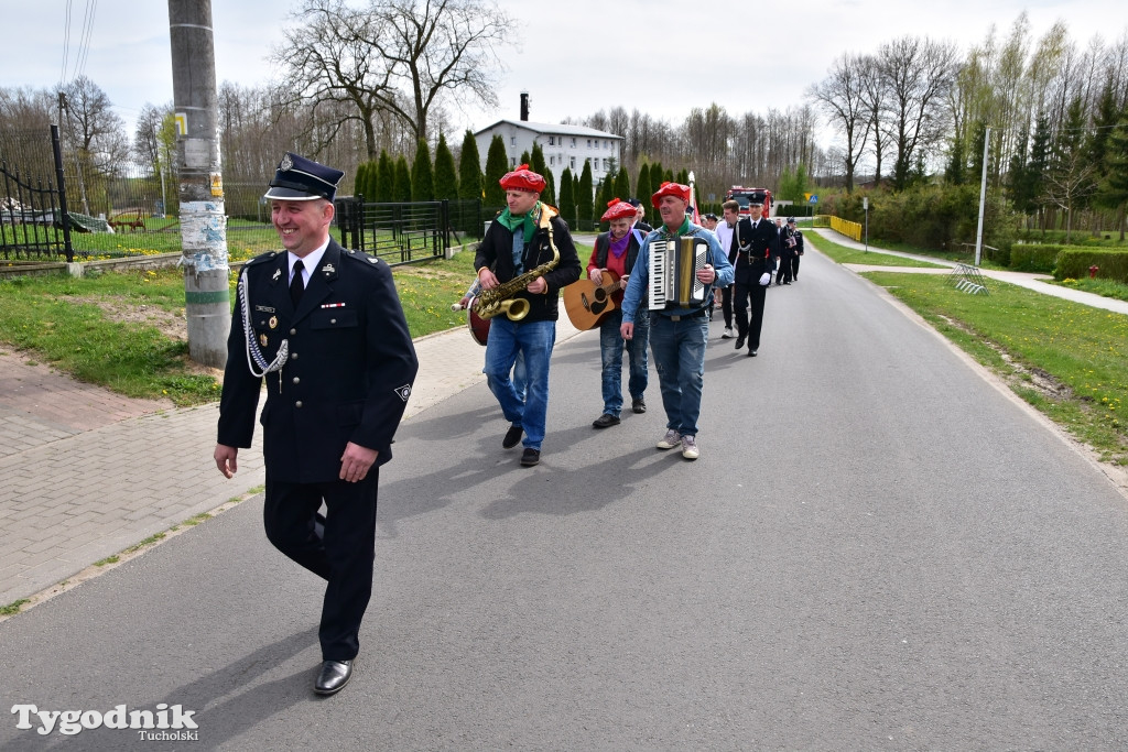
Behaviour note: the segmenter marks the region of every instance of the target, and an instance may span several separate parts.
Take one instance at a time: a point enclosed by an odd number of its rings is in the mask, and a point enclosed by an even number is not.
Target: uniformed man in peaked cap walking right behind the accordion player
[[[764,219],[764,198],[754,195],[748,203],[749,215],[737,223],[737,350],[748,340],[748,355],[756,357],[760,348],[764,324],[764,299],[772,284],[772,272],[779,256],[779,232]],[[751,299],[751,319],[748,306]]]

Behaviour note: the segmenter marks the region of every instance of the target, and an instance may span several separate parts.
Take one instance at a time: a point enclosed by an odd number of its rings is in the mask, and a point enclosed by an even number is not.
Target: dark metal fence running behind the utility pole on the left
[[[58,129],[52,132],[54,154],[45,133],[0,133],[0,258],[88,260],[182,250],[174,169],[131,162],[92,169],[64,147],[60,151]],[[265,191],[264,176],[224,175],[232,259],[279,247]],[[343,196],[335,203],[343,245],[393,264],[442,257],[483,232],[481,201],[372,204]]]

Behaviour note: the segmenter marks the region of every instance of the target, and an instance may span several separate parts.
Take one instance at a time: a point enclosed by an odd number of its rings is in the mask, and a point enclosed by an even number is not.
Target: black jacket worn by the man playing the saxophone
[[[539,295],[535,295],[527,290],[521,290],[513,298],[525,298],[529,301],[529,313],[525,321],[555,321],[559,318],[557,302],[559,291],[580,278],[580,258],[575,253],[575,245],[572,242],[572,233],[569,232],[567,223],[562,220],[556,210],[547,204],[541,204],[541,218],[538,222],[532,239],[525,245],[525,253],[521,256],[521,264],[525,272],[545,264],[553,258],[553,250],[548,244],[548,227],[552,227],[553,244],[559,250],[559,262],[556,267],[545,274],[545,282],[548,290]],[[491,222],[486,230],[486,237],[478,245],[478,253],[474,257],[475,272],[482,267],[493,271],[497,282],[504,284],[517,276],[513,267],[513,232],[501,222]]]

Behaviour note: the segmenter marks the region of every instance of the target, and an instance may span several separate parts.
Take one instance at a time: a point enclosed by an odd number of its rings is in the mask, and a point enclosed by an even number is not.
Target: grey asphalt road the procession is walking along
[[[557,348],[535,469],[482,384],[400,428],[341,695],[256,498],[0,623],[6,708],[178,704],[199,741],[10,715],[0,749],[1128,744],[1125,498],[875,287],[808,254],[759,357],[713,339],[696,462],[656,378],[590,427],[598,362]]]

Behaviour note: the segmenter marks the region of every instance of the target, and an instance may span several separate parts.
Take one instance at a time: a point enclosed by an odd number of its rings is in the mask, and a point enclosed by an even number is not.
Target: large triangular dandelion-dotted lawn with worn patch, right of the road
[[[999,374],[1103,461],[1128,465],[1128,317],[1003,282],[992,282],[989,295],[969,295],[943,276],[864,276]]]

